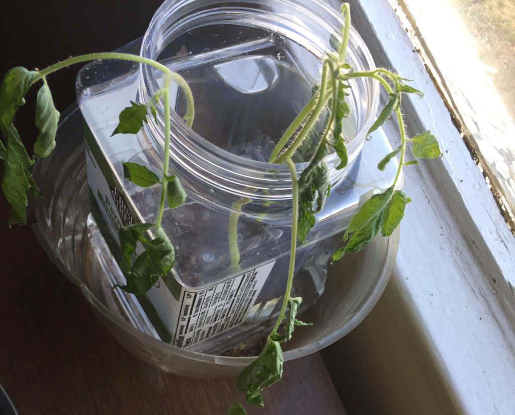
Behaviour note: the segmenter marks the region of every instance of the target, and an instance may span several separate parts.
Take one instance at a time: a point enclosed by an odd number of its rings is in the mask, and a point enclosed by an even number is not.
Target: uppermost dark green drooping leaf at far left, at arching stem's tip
[[[9,70],[0,85],[0,131],[4,138],[9,134],[14,114],[25,103],[25,95],[38,72],[22,66]]]

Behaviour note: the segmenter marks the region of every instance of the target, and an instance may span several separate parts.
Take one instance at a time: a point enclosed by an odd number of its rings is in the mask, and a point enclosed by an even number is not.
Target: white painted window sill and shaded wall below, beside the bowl
[[[391,281],[325,352],[335,384],[350,415],[512,414],[515,238],[388,0],[351,2],[351,13],[376,65],[425,92],[404,99],[405,123],[431,130],[444,154],[404,170],[413,202]],[[385,133],[396,147],[396,127]]]

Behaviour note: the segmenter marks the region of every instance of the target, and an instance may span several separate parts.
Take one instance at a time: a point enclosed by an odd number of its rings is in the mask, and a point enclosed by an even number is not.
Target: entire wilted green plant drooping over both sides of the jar
[[[441,156],[436,138],[426,131],[416,135],[413,139],[406,137],[400,112],[401,99],[404,93],[423,94],[405,83],[407,79],[383,69],[368,72],[356,72],[345,62],[347,42],[350,30],[349,5],[342,6],[342,15],[345,25],[341,28],[341,39],[331,39],[334,52],[327,54],[323,61],[322,77],[319,85],[313,89],[313,96],[299,115],[294,119],[281,137],[278,145],[272,151],[271,162],[286,163],[292,174],[292,187],[294,199],[294,222],[292,223],[292,248],[288,283],[284,296],[283,306],[276,326],[268,336],[265,348],[260,356],[252,362],[238,376],[237,387],[245,392],[247,402],[263,406],[262,391],[277,382],[282,375],[283,356],[281,343],[289,340],[295,326],[306,325],[296,318],[301,298],[290,297],[291,279],[295,262],[297,238],[304,243],[308,232],[316,222],[316,214],[323,209],[324,202],[330,194],[329,166],[325,156],[334,151],[339,158],[337,169],[344,168],[348,163],[346,138],[342,132],[342,120],[350,114],[347,99],[349,81],[358,77],[369,77],[379,81],[389,100],[381,110],[379,116],[370,127],[368,133],[380,128],[386,120],[396,114],[401,144],[385,155],[379,162],[378,168],[383,170],[394,158],[399,157],[396,178],[386,191],[374,194],[365,201],[361,208],[351,218],[345,235],[345,246],[339,248],[332,260],[338,260],[349,252],[356,252],[373,240],[379,232],[389,236],[399,225],[404,216],[406,205],[411,201],[402,191],[396,188],[401,170],[417,161],[404,161],[407,145],[411,144],[411,153],[416,158],[435,158]],[[0,160],[5,164],[5,174],[2,188],[8,202],[12,206],[9,225],[26,220],[27,194],[38,194],[38,188],[30,175],[30,167],[36,157],[48,157],[55,147],[55,136],[59,119],[59,112],[55,109],[52,94],[46,82],[46,75],[55,72],[61,67],[85,60],[85,58],[101,58],[102,54],[84,55],[78,58],[56,64],[42,72],[29,71],[23,67],[10,70],[0,85]],[[103,54],[102,56],[115,59],[129,59],[143,62],[144,58],[130,55]],[[135,134],[147,123],[147,115],[157,118],[158,102],[163,100],[165,109],[165,160],[161,175],[148,169],[146,166],[126,162],[123,163],[124,177],[141,187],[160,185],[161,195],[156,221],[153,223],[137,223],[119,229],[121,243],[120,266],[126,276],[126,284],[118,286],[129,292],[141,294],[155,285],[160,276],[168,273],[174,266],[175,251],[173,244],[161,227],[161,218],[165,202],[168,208],[175,208],[184,203],[186,193],[179,180],[168,171],[169,148],[169,82],[174,79],[185,92],[188,110],[185,119],[188,125],[193,122],[193,96],[191,90],[178,74],[172,73],[166,67],[155,61],[146,60],[144,63],[153,65],[163,71],[165,76],[164,87],[158,91],[147,103],[130,101],[130,107],[119,114],[119,123],[112,135],[118,133]],[[16,111],[25,102],[29,88],[41,81],[37,94],[35,123],[39,135],[30,157],[14,126]],[[323,123],[320,123],[321,114],[325,114]],[[315,125],[322,124],[322,130],[316,131]],[[309,155],[307,167],[296,177],[294,158],[304,160]],[[295,177],[294,177],[295,175]],[[151,229],[155,228],[153,232]],[[234,227],[235,228],[235,227]],[[138,246],[144,248],[136,254]],[[237,255],[239,257],[239,255]],[[279,334],[280,325],[283,324],[282,334]],[[231,405],[229,415],[242,415],[245,410],[238,402]]]

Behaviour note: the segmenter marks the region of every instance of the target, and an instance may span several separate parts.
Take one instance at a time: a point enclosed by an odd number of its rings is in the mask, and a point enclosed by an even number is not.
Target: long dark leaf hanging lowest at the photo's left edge
[[[20,139],[18,131],[11,123],[7,132],[7,149],[5,154],[5,171],[2,189],[11,205],[9,226],[14,223],[25,223],[25,209],[28,205],[27,192],[38,194],[36,183],[28,168],[34,163]]]

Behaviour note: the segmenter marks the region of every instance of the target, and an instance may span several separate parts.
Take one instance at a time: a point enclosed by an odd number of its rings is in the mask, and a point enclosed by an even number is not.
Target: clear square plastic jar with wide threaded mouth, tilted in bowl
[[[138,298],[164,341],[215,354],[263,335],[277,317],[289,261],[291,179],[285,165],[267,160],[311,98],[343,23],[324,3],[299,0],[169,0],[152,19],[141,55],[186,79],[196,112],[188,128],[181,118],[185,101],[172,85],[169,174],[180,179],[187,200],[163,215],[163,229],[176,247],[175,266]],[[360,70],[374,67],[353,29],[348,62]],[[148,102],[161,82],[152,67],[119,61],[93,62],[78,76],[79,108],[89,127],[90,233],[98,226],[115,258],[119,226],[155,221],[160,186],[142,188],[124,179],[122,163],[160,174],[162,106],[138,134],[111,134],[129,101]],[[344,127],[349,163],[336,170],[337,155],[326,158],[331,195],[297,251],[293,294],[303,299],[299,312],[321,296],[328,259],[357,209],[349,190],[353,165],[379,91],[369,79],[353,82],[352,114]],[[300,173],[306,166],[302,154],[297,161]],[[238,246],[237,264],[234,255],[231,263],[230,238]]]

